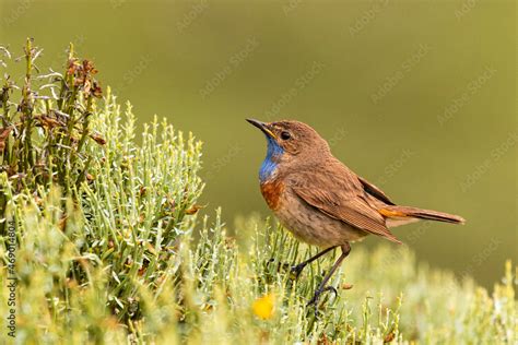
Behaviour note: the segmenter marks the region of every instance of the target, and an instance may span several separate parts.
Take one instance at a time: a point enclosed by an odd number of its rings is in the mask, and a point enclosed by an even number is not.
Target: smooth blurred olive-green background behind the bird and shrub
[[[229,223],[270,214],[244,119],[290,118],[396,202],[468,219],[396,229],[420,260],[484,285],[518,261],[515,1],[0,0],[0,45],[26,37],[55,69],[73,41],[141,122],[195,132]]]

